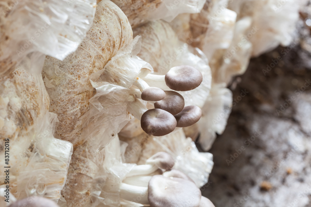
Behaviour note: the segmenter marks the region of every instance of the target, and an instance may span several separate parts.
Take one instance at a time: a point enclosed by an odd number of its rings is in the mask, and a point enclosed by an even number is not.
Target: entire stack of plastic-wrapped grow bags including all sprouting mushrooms
[[[213,206],[193,140],[224,131],[250,57],[291,42],[298,4],[277,1],[2,0],[0,206]]]

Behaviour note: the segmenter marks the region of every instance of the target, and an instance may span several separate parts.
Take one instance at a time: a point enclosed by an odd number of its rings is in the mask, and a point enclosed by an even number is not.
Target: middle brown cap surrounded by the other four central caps
[[[154,105],[156,109],[168,111],[172,115],[178,114],[185,106],[185,100],[182,95],[175,91],[164,91],[165,98],[157,101]]]

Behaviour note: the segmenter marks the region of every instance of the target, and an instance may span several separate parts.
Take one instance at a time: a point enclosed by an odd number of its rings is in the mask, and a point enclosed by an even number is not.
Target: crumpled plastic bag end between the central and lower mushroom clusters
[[[191,138],[186,138],[182,128],[161,137],[153,137],[142,133],[137,137],[120,137],[128,143],[125,152],[126,162],[145,164],[146,160],[157,152],[164,151],[175,160],[173,169],[187,174],[198,187],[207,183],[213,168],[213,155],[199,152]]]

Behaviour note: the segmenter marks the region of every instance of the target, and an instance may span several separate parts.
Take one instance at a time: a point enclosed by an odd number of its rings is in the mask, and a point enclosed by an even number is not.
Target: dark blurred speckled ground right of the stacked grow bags
[[[311,206],[311,38],[302,25],[293,49],[252,59],[232,84],[236,105],[209,151],[215,165],[202,188],[216,207]]]

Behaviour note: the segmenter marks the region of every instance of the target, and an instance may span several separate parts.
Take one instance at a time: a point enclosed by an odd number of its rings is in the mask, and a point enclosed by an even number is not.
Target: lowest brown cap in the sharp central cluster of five
[[[169,112],[162,109],[147,110],[140,121],[142,129],[153,136],[164,136],[174,131],[176,119]]]

